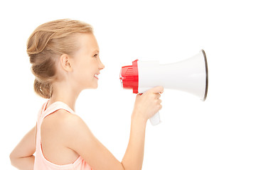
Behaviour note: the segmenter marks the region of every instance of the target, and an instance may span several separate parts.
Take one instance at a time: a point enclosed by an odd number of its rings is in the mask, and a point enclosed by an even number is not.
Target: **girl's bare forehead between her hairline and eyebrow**
[[[99,46],[95,35],[92,33],[80,33],[78,34],[78,46],[80,50],[84,52],[99,51]]]

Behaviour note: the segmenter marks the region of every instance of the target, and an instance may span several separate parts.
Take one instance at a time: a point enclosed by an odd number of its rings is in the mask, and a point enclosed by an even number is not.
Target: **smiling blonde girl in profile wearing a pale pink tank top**
[[[36,77],[34,90],[49,99],[36,126],[11,152],[11,164],[35,170],[142,169],[146,121],[161,109],[163,87],[137,95],[129,144],[119,162],[75,115],[80,92],[96,89],[97,76],[105,67],[92,27],[69,19],[44,23],[28,38],[27,52]]]

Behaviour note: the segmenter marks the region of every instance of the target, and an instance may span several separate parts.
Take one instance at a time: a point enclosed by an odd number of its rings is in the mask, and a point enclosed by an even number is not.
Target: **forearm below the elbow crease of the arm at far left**
[[[10,157],[11,165],[15,166],[20,170],[33,170],[33,164],[35,161],[35,157],[32,155],[31,157],[22,157],[22,158],[14,158]]]

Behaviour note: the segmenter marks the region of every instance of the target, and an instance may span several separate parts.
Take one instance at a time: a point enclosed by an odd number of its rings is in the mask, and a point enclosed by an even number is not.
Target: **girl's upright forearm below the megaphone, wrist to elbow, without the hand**
[[[129,144],[122,159],[122,165],[125,170],[142,169],[146,120],[135,117],[132,117]]]

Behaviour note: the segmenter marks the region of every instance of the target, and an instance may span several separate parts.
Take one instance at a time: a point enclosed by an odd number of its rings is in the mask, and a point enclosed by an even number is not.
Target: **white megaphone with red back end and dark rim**
[[[208,64],[206,52],[171,64],[158,61],[135,60],[132,65],[121,69],[119,79],[124,89],[132,89],[134,94],[142,94],[154,86],[186,91],[206,100],[208,92]],[[150,118],[152,125],[159,124],[160,115]]]

